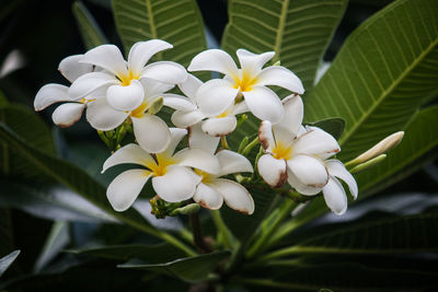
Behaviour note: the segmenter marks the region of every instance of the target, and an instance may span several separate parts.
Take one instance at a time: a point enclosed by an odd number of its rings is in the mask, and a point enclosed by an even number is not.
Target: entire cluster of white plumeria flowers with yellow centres
[[[131,127],[135,142],[113,149],[102,170],[138,165],[110,184],[107,198],[115,210],[127,210],[151,182],[157,196],[169,203],[194,201],[211,210],[226,203],[252,214],[255,206],[250,191],[260,179],[273,191],[289,184],[304,196],[322,192],[332,211],[346,211],[346,191],[338,179],[354,198],[356,182],[333,159],[341,151],[336,140],[320,128],[302,125],[304,89],[290,70],[266,66],[275,52],[238,49],[239,68],[226,51],[205,50],[187,70],[219,72],[221,78],[203,82],[176,62],[150,62],[153,55],[171,48],[160,39],[139,42],[125,60],[114,45],[95,47],[60,62],[59,71],[70,86],[47,84],[36,94],[36,110],[62,102],[53,114],[61,127],[78,121],[85,108],[87,120],[99,131]],[[281,100],[272,85],[290,95]],[[162,106],[174,110],[171,127],[159,116]],[[224,142],[243,113],[261,120],[256,139],[263,154],[253,162],[260,176],[253,174],[247,157]]]

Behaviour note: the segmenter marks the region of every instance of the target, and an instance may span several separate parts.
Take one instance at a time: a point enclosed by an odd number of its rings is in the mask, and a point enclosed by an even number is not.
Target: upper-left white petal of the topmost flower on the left
[[[127,75],[128,69],[120,50],[114,45],[101,45],[83,55],[81,62],[99,66],[115,75]]]

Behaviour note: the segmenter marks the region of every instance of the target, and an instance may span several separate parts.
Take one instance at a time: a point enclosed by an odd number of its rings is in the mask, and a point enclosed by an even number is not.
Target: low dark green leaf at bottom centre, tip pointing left
[[[157,265],[141,264],[141,261],[128,261],[118,265],[126,269],[145,269],[149,271],[172,275],[186,282],[201,282],[210,279],[210,276],[220,262],[230,256],[230,252],[217,252],[207,255],[176,259],[174,261]]]

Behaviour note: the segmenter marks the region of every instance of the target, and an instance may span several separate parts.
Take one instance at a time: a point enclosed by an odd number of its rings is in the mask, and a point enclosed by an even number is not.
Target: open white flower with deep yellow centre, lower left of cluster
[[[146,167],[129,170],[119,174],[110,184],[106,196],[116,211],[125,211],[136,200],[145,184],[152,177],[152,187],[165,201],[178,202],[193,197],[201,177],[191,167],[208,173],[218,173],[218,159],[201,149],[183,149],[173,154],[176,145],[187,133],[185,129],[171,128],[172,139],[165,151],[154,156],[137,144],[127,144],[110,156],[102,173],[123,163],[134,163]]]

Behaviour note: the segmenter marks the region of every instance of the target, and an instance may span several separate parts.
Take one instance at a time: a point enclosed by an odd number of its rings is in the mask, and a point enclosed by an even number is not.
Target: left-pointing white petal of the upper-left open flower
[[[118,81],[104,72],[91,72],[78,78],[69,89],[69,95],[77,101],[85,97],[90,93],[111,84],[117,84]]]

